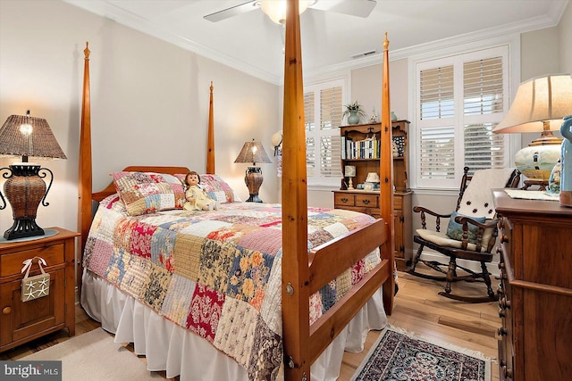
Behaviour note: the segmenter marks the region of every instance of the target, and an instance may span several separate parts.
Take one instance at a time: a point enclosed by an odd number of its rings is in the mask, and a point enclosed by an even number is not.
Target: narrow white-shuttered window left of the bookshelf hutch
[[[339,186],[341,178],[341,114],[345,79],[304,89],[308,186]]]

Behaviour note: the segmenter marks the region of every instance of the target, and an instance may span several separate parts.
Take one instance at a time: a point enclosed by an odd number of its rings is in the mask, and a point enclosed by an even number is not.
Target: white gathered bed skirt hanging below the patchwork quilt
[[[367,332],[385,327],[382,299],[380,289],[315,360],[312,380],[335,381],[344,350],[363,351]],[[81,306],[115,335],[115,343],[132,343],[136,354],[145,355],[147,370],[164,370],[166,377],[180,376],[181,381],[248,380],[246,369],[205,339],[162,318],[88,270],[82,275]]]

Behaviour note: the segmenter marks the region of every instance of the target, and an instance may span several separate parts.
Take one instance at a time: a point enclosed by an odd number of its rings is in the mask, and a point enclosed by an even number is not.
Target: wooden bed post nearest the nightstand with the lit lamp
[[[80,173],[78,176],[78,209],[80,225],[80,258],[76,273],[76,283],[81,290],[81,273],[83,249],[86,246],[89,226],[91,225],[91,105],[89,98],[89,48],[83,51],[85,55],[83,64],[83,94],[81,97],[81,130],[80,130]]]

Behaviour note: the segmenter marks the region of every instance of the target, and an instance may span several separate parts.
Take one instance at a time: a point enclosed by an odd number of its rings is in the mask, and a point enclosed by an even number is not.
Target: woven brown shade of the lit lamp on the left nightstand
[[[10,115],[0,128],[0,154],[39,159],[67,159],[54,134],[42,118]]]

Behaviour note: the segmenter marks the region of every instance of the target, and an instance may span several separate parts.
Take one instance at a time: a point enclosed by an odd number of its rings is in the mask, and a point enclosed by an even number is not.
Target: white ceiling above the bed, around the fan
[[[260,10],[212,22],[203,16],[247,0],[64,0],[148,35],[282,83],[282,26]],[[336,0],[318,0],[332,2]],[[340,1],[340,0],[338,0]],[[343,0],[351,2],[354,0]],[[431,49],[435,41],[552,27],[568,0],[377,0],[366,19],[308,9],[300,16],[305,75],[382,62],[383,33],[391,59]],[[361,58],[356,54],[375,51]]]

